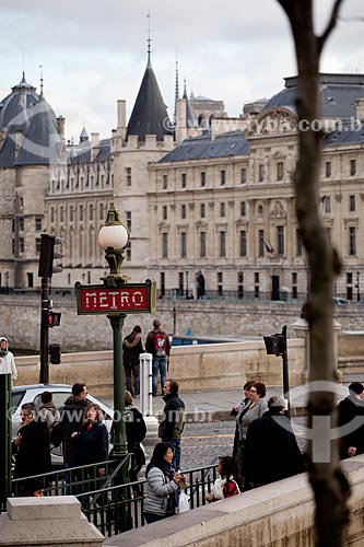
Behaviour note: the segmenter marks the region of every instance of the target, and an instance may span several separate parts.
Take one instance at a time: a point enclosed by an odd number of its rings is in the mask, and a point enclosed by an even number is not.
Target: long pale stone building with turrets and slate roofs
[[[364,275],[364,77],[321,74],[320,84],[327,132],[320,210],[344,261],[336,294],[356,300]],[[149,53],[128,123],[120,100],[109,139],[93,133],[89,140],[83,130],[80,143],[66,151],[64,119],[23,78],[0,106],[1,287],[39,284],[42,231],[63,240],[63,271],[54,277],[55,287],[98,282],[107,267],[97,234],[114,203],[131,232],[125,275],[155,279],[160,296],[304,299],[309,280],[292,185],[295,92],[296,79],[287,78],[268,102],[228,118],[222,102],[189,98],[185,90],[174,127]],[[5,119],[11,101],[24,113],[23,125],[14,106]],[[36,116],[28,115],[39,104],[40,133],[34,132]],[[26,147],[32,138],[35,152]]]

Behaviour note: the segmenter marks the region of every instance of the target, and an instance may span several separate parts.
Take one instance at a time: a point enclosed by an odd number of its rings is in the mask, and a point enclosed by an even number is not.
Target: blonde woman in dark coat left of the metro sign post
[[[108,458],[108,432],[103,423],[104,415],[98,405],[90,403],[80,432],[72,433],[78,441],[78,465],[97,464]],[[99,476],[105,475],[105,467],[98,467]]]

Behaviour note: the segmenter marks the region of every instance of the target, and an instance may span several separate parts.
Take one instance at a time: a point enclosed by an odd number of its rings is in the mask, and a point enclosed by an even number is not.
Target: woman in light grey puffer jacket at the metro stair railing
[[[176,473],[173,465],[173,450],[168,443],[157,443],[146,466],[146,497],[144,519],[148,524],[162,521],[176,513],[179,482],[186,477]]]

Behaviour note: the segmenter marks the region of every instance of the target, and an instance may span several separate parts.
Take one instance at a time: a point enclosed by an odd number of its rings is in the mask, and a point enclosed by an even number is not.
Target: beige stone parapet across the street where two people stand
[[[290,382],[303,382],[304,340],[289,340]],[[14,385],[39,382],[39,358],[16,358],[19,377]],[[183,392],[236,388],[247,380],[259,380],[268,386],[282,384],[282,360],[267,356],[262,341],[209,344],[172,348],[168,374],[178,379]],[[49,364],[51,383],[84,382],[95,396],[113,397],[113,352],[66,353],[59,365]]]

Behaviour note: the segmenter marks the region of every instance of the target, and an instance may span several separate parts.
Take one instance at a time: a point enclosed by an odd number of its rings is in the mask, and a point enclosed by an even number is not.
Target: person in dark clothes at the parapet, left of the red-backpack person
[[[139,397],[140,395],[140,364],[139,356],[144,352],[143,345],[141,341],[141,328],[136,325],[130,333],[130,335],[124,338],[122,342],[124,351],[124,369],[126,375],[127,389],[133,397]],[[131,385],[131,373],[133,375],[133,384]]]

